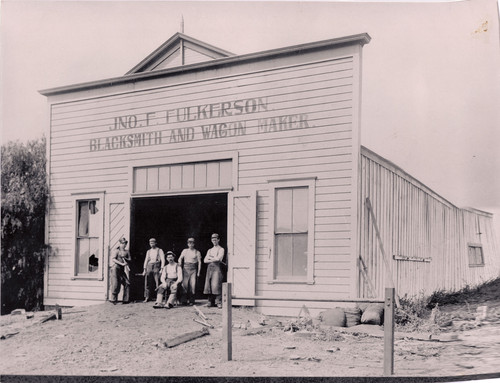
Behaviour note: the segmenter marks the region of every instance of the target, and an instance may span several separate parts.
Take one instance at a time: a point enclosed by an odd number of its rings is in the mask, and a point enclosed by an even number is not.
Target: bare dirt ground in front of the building
[[[41,319],[50,312],[30,319],[3,316],[0,374],[383,376],[380,326],[309,326],[292,332],[285,329],[294,318],[263,317],[249,308],[233,309],[233,360],[222,361],[222,310],[202,303],[197,307],[214,328],[209,335],[172,348],[165,347],[165,341],[203,328],[194,321],[200,318],[193,307],[167,310],[153,309],[152,302],[105,303],[63,308],[61,320],[44,323]],[[499,373],[500,301],[486,304],[489,314],[482,323],[473,319],[477,305],[457,306],[443,311],[453,318],[452,325],[434,335],[397,332],[395,375]],[[263,321],[267,325],[259,324]]]

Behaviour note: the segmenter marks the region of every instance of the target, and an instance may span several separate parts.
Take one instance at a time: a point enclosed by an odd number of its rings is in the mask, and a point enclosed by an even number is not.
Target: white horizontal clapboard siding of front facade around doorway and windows
[[[192,54],[190,60],[196,60],[192,51],[185,53]],[[151,89],[53,103],[50,186],[54,200],[49,213],[49,241],[56,255],[49,262],[49,296],[99,300],[106,295],[106,281],[86,284],[69,278],[74,228],[51,222],[64,219],[73,224],[72,194],[105,191],[105,198],[114,196],[125,201],[132,190],[132,167],[165,166],[177,163],[178,158],[189,158],[192,153],[212,154],[217,148],[221,158],[233,158],[233,153],[238,153],[240,190],[257,191],[256,292],[284,297],[290,291],[304,297],[311,292],[345,297],[354,275],[350,248],[355,241],[351,232],[354,198],[351,193],[356,182],[353,113],[358,102],[357,70],[355,58],[347,56],[171,86],[162,86],[158,81]],[[233,109],[225,116],[211,119],[201,115],[186,120],[187,115],[182,114],[186,113],[182,108],[195,110],[198,106],[235,100],[256,100],[253,102],[261,104],[249,113],[238,114]],[[178,108],[181,108],[180,120],[176,120]],[[272,123],[279,123],[279,117],[282,122],[287,121],[283,117],[287,115],[295,116],[294,129],[269,131]],[[124,116],[135,116],[130,121],[141,126],[115,130],[121,127],[114,125],[115,118]],[[201,126],[214,123],[230,124],[234,136],[206,138]],[[173,135],[176,129],[184,129],[183,132],[192,129],[192,139],[177,142],[177,136]],[[96,140],[100,140],[100,148],[104,149],[107,138],[138,133],[155,135],[158,141],[153,139],[154,145],[95,150]],[[274,214],[269,210],[269,199],[273,196],[268,181],[277,177],[316,177],[315,228],[311,233],[313,285],[268,283],[272,230],[269,221]],[[123,209],[124,205],[109,205],[115,209],[118,206]],[[110,222],[115,216],[113,212],[105,214]],[[122,223],[124,214],[124,210],[116,214]],[[106,234],[110,247],[124,229],[118,226],[106,229],[110,230]],[[64,286],[70,288],[64,290]]]

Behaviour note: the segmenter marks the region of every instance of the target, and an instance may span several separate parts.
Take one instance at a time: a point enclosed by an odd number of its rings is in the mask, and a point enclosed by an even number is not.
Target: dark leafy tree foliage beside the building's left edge
[[[43,300],[46,140],[2,145],[2,314]]]

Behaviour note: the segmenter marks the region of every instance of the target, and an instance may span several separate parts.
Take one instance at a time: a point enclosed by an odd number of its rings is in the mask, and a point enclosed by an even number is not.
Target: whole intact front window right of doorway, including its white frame
[[[314,283],[316,178],[270,185],[269,283]]]

